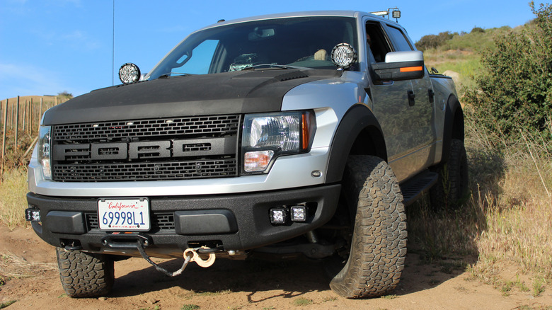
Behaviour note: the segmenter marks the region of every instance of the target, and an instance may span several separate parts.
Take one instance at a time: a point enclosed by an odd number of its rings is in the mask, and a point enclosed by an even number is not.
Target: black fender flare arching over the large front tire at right
[[[362,141],[357,141],[359,137],[361,139],[369,138],[369,142],[373,145],[364,147]],[[369,155],[378,156],[387,161],[387,149],[381,126],[372,110],[362,103],[352,105],[343,115],[330,146],[326,183],[341,181],[345,163],[347,163],[347,157],[351,154],[351,151],[360,151],[357,154],[363,154],[363,151],[369,149],[371,153],[374,153]],[[355,149],[353,149],[354,146],[356,146]]]

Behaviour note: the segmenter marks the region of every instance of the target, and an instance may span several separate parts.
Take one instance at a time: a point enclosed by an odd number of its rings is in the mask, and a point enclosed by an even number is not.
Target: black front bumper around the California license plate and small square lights
[[[341,185],[279,190],[265,193],[195,197],[149,197],[152,228],[140,237],[149,240],[150,256],[181,256],[197,244],[217,244],[225,251],[267,246],[325,224],[338,205]],[[115,237],[97,226],[98,202],[94,197],[48,197],[27,194],[29,207],[40,209],[33,229],[52,246],[79,246],[84,251],[138,256],[128,248],[134,236]],[[270,223],[270,209],[306,203],[306,222]],[[105,244],[105,240],[114,241]],[[104,242],[102,242],[104,240]],[[120,240],[121,243],[117,243]]]

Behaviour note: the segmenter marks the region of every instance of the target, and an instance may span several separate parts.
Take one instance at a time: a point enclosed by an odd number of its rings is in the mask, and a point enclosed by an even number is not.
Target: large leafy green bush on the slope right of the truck
[[[534,25],[498,34],[495,47],[481,55],[485,70],[476,78],[477,89],[466,93],[470,116],[498,137],[495,144],[517,142],[521,132],[543,144],[552,138],[552,7],[529,5]]]

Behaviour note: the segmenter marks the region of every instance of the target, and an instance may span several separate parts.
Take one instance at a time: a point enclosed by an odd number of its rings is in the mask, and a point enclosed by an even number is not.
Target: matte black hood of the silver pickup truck
[[[257,69],[173,76],[98,89],[45,113],[44,125],[279,111],[290,89],[338,70]]]

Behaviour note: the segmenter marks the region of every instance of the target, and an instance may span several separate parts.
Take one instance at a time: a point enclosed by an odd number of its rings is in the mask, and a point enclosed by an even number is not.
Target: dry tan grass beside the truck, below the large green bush
[[[424,201],[410,206],[408,238],[427,260],[476,257],[471,277],[503,294],[518,284],[502,275],[514,265],[529,279],[519,290],[531,287],[538,296],[552,282],[552,142],[539,133],[523,137],[497,148],[500,137],[466,118],[471,197],[456,211],[435,213]]]

